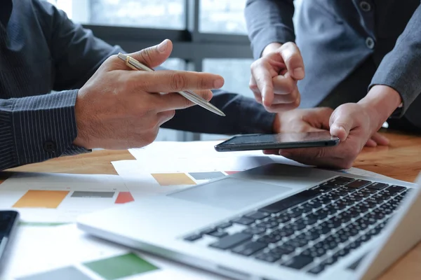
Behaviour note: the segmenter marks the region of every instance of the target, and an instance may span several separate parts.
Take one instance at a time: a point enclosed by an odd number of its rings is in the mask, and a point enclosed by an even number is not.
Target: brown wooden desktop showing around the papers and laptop
[[[391,141],[388,147],[364,148],[354,167],[390,176],[403,181],[415,181],[421,172],[421,137],[385,133]],[[59,172],[73,174],[116,174],[111,163],[133,160],[128,151],[93,151],[86,155],[57,158],[34,165],[10,169],[17,172]],[[421,223],[421,221],[417,221]],[[380,277],[381,280],[421,279],[421,244],[407,253]]]

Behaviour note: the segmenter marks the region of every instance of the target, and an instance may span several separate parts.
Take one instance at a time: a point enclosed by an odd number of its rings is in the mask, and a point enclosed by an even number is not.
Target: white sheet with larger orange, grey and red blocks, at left
[[[72,223],[77,216],[133,202],[119,176],[16,174],[0,185],[0,208],[27,223]]]

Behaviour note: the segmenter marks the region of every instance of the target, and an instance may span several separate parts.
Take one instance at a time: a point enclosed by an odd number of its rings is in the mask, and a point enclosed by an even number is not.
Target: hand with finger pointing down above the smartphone
[[[292,42],[269,44],[251,65],[250,90],[269,112],[295,109],[300,104],[297,80],[305,76],[300,50]]]

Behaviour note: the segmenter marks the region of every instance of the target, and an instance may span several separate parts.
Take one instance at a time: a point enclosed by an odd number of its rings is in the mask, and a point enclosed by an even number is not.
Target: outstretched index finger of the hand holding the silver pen
[[[224,85],[224,79],[212,73],[160,70],[132,71],[128,82],[146,92],[180,92],[183,90],[211,90]]]

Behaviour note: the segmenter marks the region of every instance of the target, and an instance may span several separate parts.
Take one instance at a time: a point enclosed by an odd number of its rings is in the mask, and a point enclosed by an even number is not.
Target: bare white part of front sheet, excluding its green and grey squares
[[[180,265],[171,260],[91,237],[77,229],[74,224],[44,228],[19,227],[0,279],[15,279],[68,266],[76,267],[91,279],[102,279],[83,265],[83,262],[102,260],[126,253],[136,253],[159,269],[124,279],[225,279],[201,269]]]

